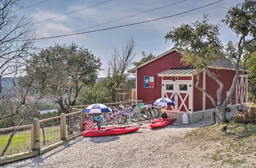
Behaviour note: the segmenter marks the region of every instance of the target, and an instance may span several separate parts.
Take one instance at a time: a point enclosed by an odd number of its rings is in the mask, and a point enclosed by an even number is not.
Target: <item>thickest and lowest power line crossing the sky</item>
[[[146,20],[146,21],[141,21],[141,22],[136,22],[136,23],[131,23],[131,24],[124,24],[124,25],[119,25],[119,26],[114,26],[114,27],[109,27],[109,28],[99,29],[99,30],[94,30],[94,31],[75,33],[75,34],[71,34],[71,35],[60,35],[60,36],[36,38],[36,39],[33,39],[33,40],[43,40],[43,39],[51,39],[51,38],[66,37],[66,36],[73,36],[73,35],[81,35],[81,34],[87,34],[87,33],[92,33],[92,32],[99,32],[99,31],[105,31],[105,30],[110,30],[110,29],[117,29],[117,28],[120,28],[120,27],[125,27],[125,26],[130,26],[130,25],[135,25],[135,24],[152,22],[152,21],[156,21],[156,20],[161,20],[161,19],[165,19],[165,18],[169,18],[169,17],[178,16],[178,15],[181,15],[181,14],[184,14],[184,13],[188,13],[188,12],[191,12],[191,11],[195,11],[195,10],[198,10],[198,9],[201,9],[201,8],[205,8],[205,7],[217,4],[217,3],[222,2],[222,1],[224,1],[224,0],[216,1],[214,3],[210,3],[210,4],[205,5],[205,6],[201,6],[201,7],[194,8],[194,9],[191,9],[191,10],[188,10],[188,11],[185,11],[185,12],[181,12],[181,13],[178,13],[178,14],[174,14],[174,15],[170,15],[170,16],[165,16],[165,17],[161,17],[161,18],[157,18],[157,19]],[[16,41],[29,41],[29,39],[26,39],[26,40],[16,40]]]

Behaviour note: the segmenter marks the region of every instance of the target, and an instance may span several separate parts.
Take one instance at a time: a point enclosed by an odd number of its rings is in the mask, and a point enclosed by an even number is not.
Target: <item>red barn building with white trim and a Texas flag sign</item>
[[[227,95],[236,71],[227,60],[220,60],[208,67],[215,72],[222,81],[224,88],[222,97]],[[242,70],[242,67],[240,67]],[[210,99],[195,88],[196,69],[193,66],[183,65],[181,54],[172,48],[154,59],[147,61],[131,70],[136,75],[136,99],[143,101],[157,100],[168,97],[175,100],[175,106],[166,108],[169,116],[177,118],[181,122],[184,111],[188,113],[189,122],[193,123],[200,119],[210,117],[214,110]],[[210,78],[204,71],[200,74],[200,87],[206,90],[217,101],[216,91],[218,83]],[[232,97],[247,102],[247,75],[240,75],[236,91]]]

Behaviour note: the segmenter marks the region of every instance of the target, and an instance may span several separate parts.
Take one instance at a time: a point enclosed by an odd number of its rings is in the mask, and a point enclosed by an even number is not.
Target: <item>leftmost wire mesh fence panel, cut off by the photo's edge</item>
[[[33,125],[0,129],[0,156],[6,156],[32,149]]]

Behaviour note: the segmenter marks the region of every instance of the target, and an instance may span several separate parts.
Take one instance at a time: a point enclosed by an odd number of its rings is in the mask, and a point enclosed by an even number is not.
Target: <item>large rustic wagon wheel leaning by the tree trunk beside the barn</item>
[[[226,99],[229,99],[228,103],[223,104]],[[238,114],[237,108],[241,109],[241,113],[244,111],[241,102],[233,97],[222,97],[217,101],[217,104],[219,103],[222,104],[221,108],[219,109],[215,106],[214,111],[217,119],[222,122],[229,122],[232,120],[233,116]]]

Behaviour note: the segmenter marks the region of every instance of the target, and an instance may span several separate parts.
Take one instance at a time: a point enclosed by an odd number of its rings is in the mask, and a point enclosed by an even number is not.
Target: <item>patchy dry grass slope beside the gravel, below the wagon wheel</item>
[[[221,129],[227,126],[227,133]],[[243,164],[256,153],[256,125],[230,122],[198,128],[186,134],[185,138],[200,149],[214,149],[205,157],[232,166]]]

